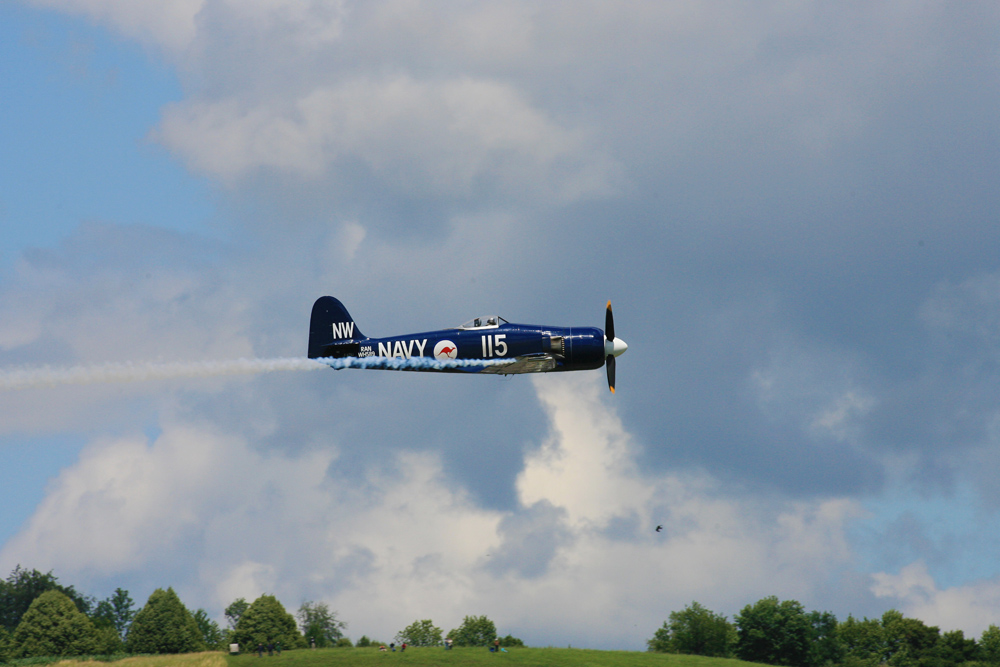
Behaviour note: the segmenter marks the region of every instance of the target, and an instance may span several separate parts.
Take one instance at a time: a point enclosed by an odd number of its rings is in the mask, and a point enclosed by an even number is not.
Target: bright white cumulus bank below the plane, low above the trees
[[[477,506],[437,454],[403,449],[347,475],[336,442],[289,455],[168,424],[91,443],[0,564],[87,585],[157,572],[156,585],[215,609],[265,591],[324,599],[369,635],[487,613],[529,641],[637,648],[693,598],[727,612],[764,594],[808,598],[850,562],[853,503],[748,505],[703,475],[643,475],[592,383],[535,386],[551,432],[510,511]]]

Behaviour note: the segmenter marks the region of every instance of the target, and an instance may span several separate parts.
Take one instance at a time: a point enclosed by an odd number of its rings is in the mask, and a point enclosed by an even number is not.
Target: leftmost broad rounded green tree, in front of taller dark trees
[[[11,644],[13,658],[87,655],[98,649],[98,632],[68,596],[50,590],[24,612]]]

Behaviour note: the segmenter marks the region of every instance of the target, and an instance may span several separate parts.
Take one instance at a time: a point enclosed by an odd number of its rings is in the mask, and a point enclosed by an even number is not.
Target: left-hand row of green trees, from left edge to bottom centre
[[[191,612],[173,588],[156,589],[142,608],[128,591],[117,588],[104,600],[83,595],[59,582],[52,572],[20,565],[0,580],[0,663],[40,656],[176,654],[258,647],[298,649],[352,646],[344,636],[347,624],[325,602],[303,602],[293,616],[273,595],[253,602],[234,600],[225,609],[221,628],[204,609]],[[516,637],[499,637],[486,616],[466,616],[443,635],[430,619],[400,630],[397,643],[411,646],[523,646]],[[362,636],[357,646],[383,642]]]

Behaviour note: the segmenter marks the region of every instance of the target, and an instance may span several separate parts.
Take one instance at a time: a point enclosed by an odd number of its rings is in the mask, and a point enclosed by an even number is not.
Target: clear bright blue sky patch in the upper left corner
[[[181,96],[176,74],[87,21],[2,8],[4,266],[83,220],[210,233],[208,185],[148,134]]]

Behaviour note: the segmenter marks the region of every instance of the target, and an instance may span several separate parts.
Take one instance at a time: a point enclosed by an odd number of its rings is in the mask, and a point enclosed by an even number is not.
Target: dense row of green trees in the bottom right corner
[[[1000,666],[1000,628],[990,625],[978,641],[961,630],[907,618],[891,609],[880,618],[839,621],[795,600],[766,597],[730,622],[692,602],[671,612],[647,642],[650,651],[739,658],[786,667],[986,667]]]

